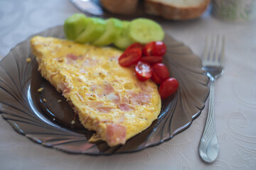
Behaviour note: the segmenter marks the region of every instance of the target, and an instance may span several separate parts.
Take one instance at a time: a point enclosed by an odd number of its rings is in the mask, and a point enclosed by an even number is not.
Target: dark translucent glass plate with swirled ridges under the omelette
[[[37,35],[65,38],[63,26]],[[208,97],[208,77],[201,69],[200,58],[183,43],[166,35],[164,63],[171,77],[179,81],[176,94],[162,101],[158,119],[125,145],[108,147],[105,142],[91,144],[88,139],[93,132],[83,128],[78,118],[71,125],[74,112],[68,102],[37,71],[30,47],[33,36],[16,45],[0,62],[0,113],[18,133],[43,146],[73,154],[137,152],[171,140],[174,135],[186,130],[200,115]],[[31,62],[27,63],[28,57],[31,57]],[[37,91],[40,87],[45,88],[42,93]],[[47,102],[43,102],[43,98]],[[60,99],[62,102],[58,103]]]

